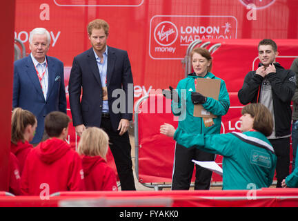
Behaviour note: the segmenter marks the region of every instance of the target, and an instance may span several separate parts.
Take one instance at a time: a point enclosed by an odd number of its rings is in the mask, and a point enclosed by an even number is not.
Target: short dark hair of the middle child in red
[[[45,129],[49,137],[59,137],[63,128],[68,128],[71,122],[66,113],[60,111],[52,111],[45,118]]]

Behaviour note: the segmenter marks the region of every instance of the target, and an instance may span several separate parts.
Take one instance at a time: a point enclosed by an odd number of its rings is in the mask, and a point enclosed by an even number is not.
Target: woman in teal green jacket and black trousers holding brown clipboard
[[[226,115],[230,107],[228,90],[224,80],[215,77],[210,71],[212,68],[212,57],[206,48],[195,48],[191,53],[192,68],[194,73],[190,73],[185,79],[181,79],[176,90],[163,90],[163,94],[172,99],[172,113],[179,116],[178,128],[187,133],[193,134],[216,134],[220,133],[221,116]],[[200,79],[219,79],[219,97],[205,97],[196,92],[195,85]],[[168,93],[168,95],[166,95]],[[216,118],[211,124],[204,124],[202,117],[194,116],[194,107],[201,104],[206,111],[209,111]],[[175,146],[175,160],[172,173],[172,190],[188,190],[192,173],[194,170],[194,160],[210,161],[215,160],[213,153],[207,153],[197,148],[186,148],[179,142]],[[196,166],[195,189],[209,189],[212,172]]]

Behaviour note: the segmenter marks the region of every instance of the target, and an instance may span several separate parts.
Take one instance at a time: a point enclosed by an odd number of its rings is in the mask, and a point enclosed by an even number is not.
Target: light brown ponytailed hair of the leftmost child
[[[13,144],[17,144],[19,140],[23,143],[25,139],[23,137],[25,129],[28,125],[34,126],[37,122],[36,117],[30,111],[23,110],[22,108],[14,108],[12,111],[11,119],[11,139]]]

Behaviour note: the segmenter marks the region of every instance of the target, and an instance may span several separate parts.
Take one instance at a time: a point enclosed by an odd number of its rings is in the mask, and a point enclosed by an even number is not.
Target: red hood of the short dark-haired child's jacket
[[[46,164],[52,164],[59,160],[70,150],[70,146],[58,138],[50,138],[41,142],[36,148],[39,159]]]

